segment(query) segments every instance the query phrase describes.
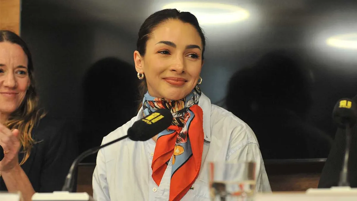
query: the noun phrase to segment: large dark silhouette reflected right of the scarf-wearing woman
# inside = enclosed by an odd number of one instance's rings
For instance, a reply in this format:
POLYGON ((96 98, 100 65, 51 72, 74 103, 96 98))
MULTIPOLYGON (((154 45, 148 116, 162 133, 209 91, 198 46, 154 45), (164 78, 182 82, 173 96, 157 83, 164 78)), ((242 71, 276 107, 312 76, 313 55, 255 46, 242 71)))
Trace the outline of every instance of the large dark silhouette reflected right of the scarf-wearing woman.
POLYGON ((306 122, 312 104, 311 73, 283 50, 236 72, 226 107, 255 132, 264 159, 321 158, 332 139, 306 122))

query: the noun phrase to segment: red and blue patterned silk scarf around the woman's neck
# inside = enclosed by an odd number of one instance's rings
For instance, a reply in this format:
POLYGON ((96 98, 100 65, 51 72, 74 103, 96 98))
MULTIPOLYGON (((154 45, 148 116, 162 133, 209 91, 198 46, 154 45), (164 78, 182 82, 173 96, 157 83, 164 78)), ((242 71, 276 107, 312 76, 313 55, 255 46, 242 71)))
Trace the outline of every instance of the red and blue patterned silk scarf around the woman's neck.
POLYGON ((197 105, 200 96, 198 85, 181 100, 154 98, 149 93, 144 96, 144 116, 165 108, 174 117, 171 126, 159 133, 151 165, 152 178, 159 186, 173 156, 169 201, 180 200, 187 193, 201 168, 204 134, 203 112, 197 105))

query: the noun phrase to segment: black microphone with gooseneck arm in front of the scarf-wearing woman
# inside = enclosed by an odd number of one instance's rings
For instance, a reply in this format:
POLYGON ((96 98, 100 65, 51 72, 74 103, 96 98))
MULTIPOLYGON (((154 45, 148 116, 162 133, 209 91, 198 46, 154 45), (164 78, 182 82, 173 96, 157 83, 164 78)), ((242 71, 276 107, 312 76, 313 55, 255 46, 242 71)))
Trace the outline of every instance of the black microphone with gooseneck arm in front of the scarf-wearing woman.
POLYGON ((167 129, 172 123, 172 114, 168 109, 158 109, 154 113, 136 121, 132 127, 128 129, 127 135, 114 141, 103 144, 99 147, 91 148, 79 155, 72 163, 72 166, 68 172, 65 183, 62 187, 62 191, 72 192, 74 186, 74 180, 72 175, 77 169, 78 164, 87 156, 94 154, 99 149, 109 146, 115 142, 121 141, 129 137, 132 141, 147 141, 154 137, 156 134, 167 129))

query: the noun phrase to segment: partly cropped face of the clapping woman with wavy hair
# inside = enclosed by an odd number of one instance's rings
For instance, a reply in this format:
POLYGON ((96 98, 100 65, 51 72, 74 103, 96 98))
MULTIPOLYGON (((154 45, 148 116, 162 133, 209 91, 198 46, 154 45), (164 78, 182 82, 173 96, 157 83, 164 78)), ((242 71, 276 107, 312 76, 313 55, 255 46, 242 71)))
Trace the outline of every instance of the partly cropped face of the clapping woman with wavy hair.
POLYGON ((20 45, 0 42, 0 114, 8 116, 25 98, 30 85, 27 56, 20 45))

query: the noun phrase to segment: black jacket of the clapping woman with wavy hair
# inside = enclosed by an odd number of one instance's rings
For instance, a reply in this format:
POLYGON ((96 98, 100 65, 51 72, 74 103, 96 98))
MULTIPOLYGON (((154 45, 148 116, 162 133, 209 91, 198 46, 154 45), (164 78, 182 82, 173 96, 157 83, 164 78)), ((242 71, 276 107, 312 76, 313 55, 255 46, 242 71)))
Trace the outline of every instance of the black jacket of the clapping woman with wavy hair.
MULTIPOLYGON (((65 121, 44 117, 32 131, 37 142, 21 166, 36 192, 60 191, 71 163, 78 155, 75 129, 65 121)), ((19 153, 19 162, 23 153, 19 153)), ((0 191, 7 191, 0 177, 0 191)))

